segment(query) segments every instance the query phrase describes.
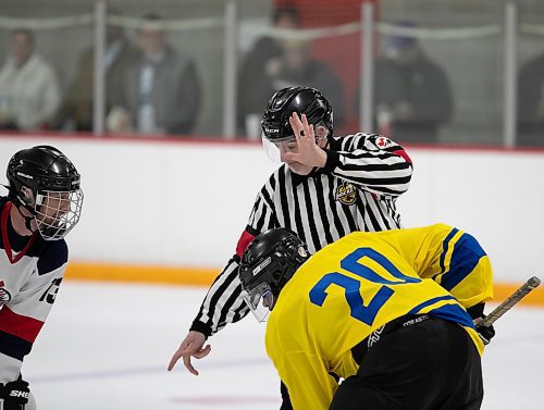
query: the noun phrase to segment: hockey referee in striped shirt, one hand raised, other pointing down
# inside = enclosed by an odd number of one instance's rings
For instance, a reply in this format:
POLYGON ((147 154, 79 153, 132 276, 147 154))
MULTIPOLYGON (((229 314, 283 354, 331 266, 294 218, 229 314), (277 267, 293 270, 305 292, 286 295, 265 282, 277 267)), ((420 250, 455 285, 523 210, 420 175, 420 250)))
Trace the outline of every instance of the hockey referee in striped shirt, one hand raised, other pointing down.
POLYGON ((406 192, 412 175, 403 147, 372 134, 334 137, 331 104, 308 87, 284 88, 270 99, 262 134, 269 151, 275 150, 283 164, 257 195, 236 254, 211 285, 169 370, 183 358, 187 370, 197 375, 190 358, 209 353, 206 339, 248 313, 240 297, 238 264, 246 246, 260 233, 289 228, 314 253, 355 231, 400 228, 395 201, 406 192))

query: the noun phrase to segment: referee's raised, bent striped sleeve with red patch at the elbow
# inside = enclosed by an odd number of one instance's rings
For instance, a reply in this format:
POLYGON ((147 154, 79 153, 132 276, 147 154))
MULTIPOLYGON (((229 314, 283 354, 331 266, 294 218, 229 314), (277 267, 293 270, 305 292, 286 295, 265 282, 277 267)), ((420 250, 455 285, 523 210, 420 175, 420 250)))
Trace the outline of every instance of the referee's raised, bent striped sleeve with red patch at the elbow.
POLYGON ((403 147, 386 137, 362 133, 335 137, 326 154, 325 172, 367 191, 397 197, 408 190, 411 160, 403 147))

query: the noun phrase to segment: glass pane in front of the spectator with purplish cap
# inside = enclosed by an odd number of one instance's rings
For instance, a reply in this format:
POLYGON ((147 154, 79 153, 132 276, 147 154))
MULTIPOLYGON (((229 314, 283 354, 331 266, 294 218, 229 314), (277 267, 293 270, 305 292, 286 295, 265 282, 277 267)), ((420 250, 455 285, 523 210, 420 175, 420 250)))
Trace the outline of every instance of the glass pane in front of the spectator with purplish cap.
POLYGON ((398 142, 503 144, 504 4, 381 2, 369 128, 398 142))

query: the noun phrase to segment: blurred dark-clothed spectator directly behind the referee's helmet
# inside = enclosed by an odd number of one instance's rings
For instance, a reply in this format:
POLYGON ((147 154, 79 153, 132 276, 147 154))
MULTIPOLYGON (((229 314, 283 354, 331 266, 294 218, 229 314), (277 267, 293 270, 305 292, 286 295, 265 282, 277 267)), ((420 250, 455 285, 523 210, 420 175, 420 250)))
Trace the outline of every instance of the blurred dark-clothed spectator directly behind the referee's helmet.
MULTIPOLYGON (((279 28, 296 28, 299 24, 298 12, 290 7, 279 9, 275 22, 279 28), (288 27, 289 24, 290 27, 288 27)), ((249 63, 246 62, 242 71, 238 114, 248 125, 246 127, 248 136, 260 137, 259 122, 251 122, 251 119, 261 119, 262 101, 267 101, 271 95, 285 87, 308 86, 319 89, 327 96, 329 101, 334 107, 335 124, 342 126, 344 119, 342 83, 326 64, 311 57, 310 44, 298 39, 282 39, 271 44, 275 45, 276 53, 274 55, 262 61, 260 67, 254 62, 254 67, 250 69, 248 67, 249 63), (245 73, 244 70, 247 70, 248 73, 245 73), (251 70, 251 74, 249 70, 251 70), (250 129, 251 123, 256 123, 255 129, 250 129)), ((272 48, 270 49, 272 50, 272 48)), ((269 53, 271 54, 271 52, 269 53)))

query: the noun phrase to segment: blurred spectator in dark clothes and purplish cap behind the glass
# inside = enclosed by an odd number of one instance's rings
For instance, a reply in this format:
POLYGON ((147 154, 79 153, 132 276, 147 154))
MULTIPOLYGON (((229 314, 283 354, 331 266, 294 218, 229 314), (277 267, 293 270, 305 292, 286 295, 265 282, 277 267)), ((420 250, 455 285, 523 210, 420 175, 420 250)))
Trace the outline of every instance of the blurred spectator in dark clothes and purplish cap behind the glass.
POLYGON ((452 116, 452 89, 445 72, 424 54, 418 40, 391 36, 375 61, 374 78, 379 132, 398 141, 436 142, 438 127, 452 116))

